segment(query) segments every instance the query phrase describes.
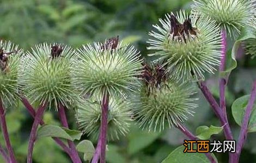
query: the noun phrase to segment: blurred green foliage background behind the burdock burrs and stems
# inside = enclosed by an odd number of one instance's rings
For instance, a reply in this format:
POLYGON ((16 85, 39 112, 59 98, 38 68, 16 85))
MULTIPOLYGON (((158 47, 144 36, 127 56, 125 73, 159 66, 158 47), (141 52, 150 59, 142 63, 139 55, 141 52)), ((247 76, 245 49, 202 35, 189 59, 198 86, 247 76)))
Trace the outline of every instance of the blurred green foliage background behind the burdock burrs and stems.
MULTIPOLYGON (((11 40, 20 47, 29 49, 36 43, 61 42, 73 47, 83 43, 103 41, 117 36, 124 42, 133 43, 142 55, 146 50, 148 32, 159 17, 170 11, 189 10, 190 0, 1 0, 0 37, 11 40)), ((229 40, 229 45, 234 41, 229 40)), ((230 53, 230 52, 229 52, 230 53)), ((248 55, 237 56, 239 66, 231 73, 227 89, 227 111, 235 138, 239 127, 231 117, 230 105, 234 99, 249 94, 253 79, 256 78, 256 58, 248 55)), ((208 77, 211 91, 218 96, 217 75, 208 77)), ((220 126, 204 97, 198 93, 198 108, 186 125, 193 133, 198 126, 220 126)), ((69 112, 71 128, 77 129, 74 111, 69 112)), ((56 112, 52 109, 44 116, 47 123, 58 124, 56 112)), ((21 102, 16 108, 8 108, 7 123, 17 160, 26 161, 29 131, 32 118, 21 102)), ((162 133, 149 133, 132 125, 130 133, 119 141, 108 143, 107 162, 161 162, 185 139, 180 131, 166 129, 162 133)), ((2 134, 1 134, 2 136, 2 134)), ((86 135, 83 139, 87 139, 86 135)), ((223 140, 222 135, 212 139, 223 140)), ((3 138, 0 138, 3 145, 3 138)), ((256 160, 256 134, 250 133, 241 155, 241 162, 256 160)), ((82 155, 81 155, 82 156, 82 155)), ((227 154, 216 154, 219 162, 227 162, 227 154)), ((36 142, 34 162, 70 162, 66 154, 50 138, 36 142)), ((0 160, 3 162, 3 160, 0 160)))

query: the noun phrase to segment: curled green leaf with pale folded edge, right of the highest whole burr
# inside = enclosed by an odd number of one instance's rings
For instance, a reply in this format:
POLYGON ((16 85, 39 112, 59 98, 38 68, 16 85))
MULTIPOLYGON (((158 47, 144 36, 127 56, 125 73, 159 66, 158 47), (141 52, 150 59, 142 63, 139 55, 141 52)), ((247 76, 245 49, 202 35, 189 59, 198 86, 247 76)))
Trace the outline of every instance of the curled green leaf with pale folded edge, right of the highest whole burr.
POLYGON ((236 62, 236 54, 237 50, 239 49, 242 41, 245 41, 250 38, 254 38, 255 36, 253 35, 252 29, 249 27, 245 27, 242 30, 241 35, 239 38, 235 41, 234 46, 232 48, 231 53, 227 53, 226 57, 226 69, 224 71, 220 72, 220 77, 228 79, 229 74, 231 73, 232 70, 234 70, 237 66, 236 62))

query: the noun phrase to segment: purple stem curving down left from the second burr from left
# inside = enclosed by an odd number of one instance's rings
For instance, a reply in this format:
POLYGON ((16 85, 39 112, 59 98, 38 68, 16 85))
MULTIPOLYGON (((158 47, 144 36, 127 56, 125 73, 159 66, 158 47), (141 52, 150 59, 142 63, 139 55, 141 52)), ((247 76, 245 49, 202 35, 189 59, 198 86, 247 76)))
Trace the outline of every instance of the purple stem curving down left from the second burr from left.
POLYGON ((42 120, 42 116, 44 115, 46 106, 47 106, 47 103, 42 102, 41 105, 39 106, 38 110, 36 111, 35 119, 34 119, 34 122, 32 125, 32 129, 31 129, 31 134, 29 136, 29 141, 28 141, 27 163, 32 163, 32 154, 33 154, 34 143, 36 140, 36 133, 37 133, 39 123, 42 120))

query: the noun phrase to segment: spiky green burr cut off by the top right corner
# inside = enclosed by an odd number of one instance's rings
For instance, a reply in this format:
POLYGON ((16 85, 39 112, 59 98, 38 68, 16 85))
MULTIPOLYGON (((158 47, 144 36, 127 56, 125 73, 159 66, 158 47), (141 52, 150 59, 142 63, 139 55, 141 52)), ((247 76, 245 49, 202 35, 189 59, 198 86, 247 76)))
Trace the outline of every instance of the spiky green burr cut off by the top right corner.
POLYGON ((200 12, 202 17, 210 18, 225 29, 230 36, 236 37, 248 25, 255 13, 255 0, 194 0, 192 12, 200 12))

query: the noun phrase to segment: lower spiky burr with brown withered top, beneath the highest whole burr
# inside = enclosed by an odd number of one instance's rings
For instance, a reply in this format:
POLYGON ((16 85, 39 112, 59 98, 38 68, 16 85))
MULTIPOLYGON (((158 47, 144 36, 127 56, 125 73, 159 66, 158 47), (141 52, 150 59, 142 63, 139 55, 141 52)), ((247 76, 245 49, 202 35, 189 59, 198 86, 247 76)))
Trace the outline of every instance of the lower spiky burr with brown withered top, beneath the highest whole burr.
POLYGON ((161 131, 178 126, 193 115, 197 105, 196 98, 191 97, 195 93, 191 85, 170 80, 159 65, 145 65, 142 79, 142 91, 131 98, 141 128, 161 131))

